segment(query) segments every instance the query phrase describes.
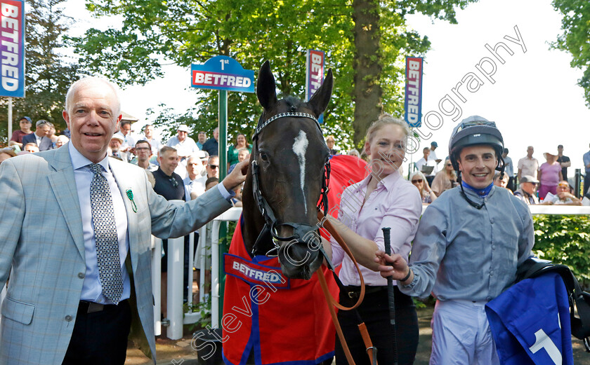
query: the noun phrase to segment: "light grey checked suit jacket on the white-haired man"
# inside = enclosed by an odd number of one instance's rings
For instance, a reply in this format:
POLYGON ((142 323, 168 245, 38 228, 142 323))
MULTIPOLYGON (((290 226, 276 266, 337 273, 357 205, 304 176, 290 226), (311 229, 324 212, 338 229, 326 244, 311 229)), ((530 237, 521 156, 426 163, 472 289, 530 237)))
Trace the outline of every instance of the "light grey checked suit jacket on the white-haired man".
MULTIPOLYGON (((125 202, 133 335, 155 354, 150 235, 180 237, 231 207, 217 189, 175 205, 154 193, 143 169, 110 158, 125 202), (125 191, 131 188, 137 212, 125 191), (142 341, 143 339, 143 341, 142 341)), ((90 193, 90 192, 89 192, 90 193)), ((61 364, 70 343, 86 264, 67 145, 0 166, 0 364, 61 364)), ((155 356, 154 361, 155 361, 155 356)))

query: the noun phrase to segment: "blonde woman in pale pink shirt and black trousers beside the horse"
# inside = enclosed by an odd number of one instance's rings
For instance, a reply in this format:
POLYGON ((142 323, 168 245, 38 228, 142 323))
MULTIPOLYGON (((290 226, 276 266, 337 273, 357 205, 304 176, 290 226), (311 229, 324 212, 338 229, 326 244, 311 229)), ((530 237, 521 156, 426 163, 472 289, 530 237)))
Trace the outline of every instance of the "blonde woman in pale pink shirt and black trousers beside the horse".
MULTIPOLYGON (((402 178, 398 169, 404 160, 409 128, 406 123, 389 114, 382 114, 367 131, 365 152, 370 156, 371 174, 357 184, 348 186, 342 194, 338 221, 331 219, 355 258, 371 261, 377 249, 384 249, 381 228, 391 227, 391 252, 409 254, 422 209, 417 188, 402 178), (369 257, 370 256, 370 257, 369 257)), ((335 265, 341 263, 340 279, 346 286, 340 292, 340 303, 353 305, 360 293, 360 279, 348 256, 332 238, 327 251, 332 252, 335 265)), ((358 308, 369 336, 377 348, 379 364, 393 364, 393 336, 389 324, 387 280, 375 272, 376 266, 361 266, 365 278, 365 300, 358 308)), ((395 281, 394 281, 395 283, 395 281)), ((343 333, 355 362, 367 362, 365 345, 358 329, 354 311, 338 312, 343 333)), ((412 364, 418 345, 418 319, 412 298, 395 287, 395 320, 398 364, 412 364)), ((336 364, 347 364, 339 339, 336 338, 336 364)))

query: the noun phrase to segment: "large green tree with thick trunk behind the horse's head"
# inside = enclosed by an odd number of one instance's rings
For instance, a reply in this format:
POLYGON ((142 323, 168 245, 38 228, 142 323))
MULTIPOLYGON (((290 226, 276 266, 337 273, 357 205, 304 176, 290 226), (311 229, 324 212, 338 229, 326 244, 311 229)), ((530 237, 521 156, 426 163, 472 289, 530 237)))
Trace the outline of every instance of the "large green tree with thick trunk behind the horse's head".
MULTIPOLYGON (((403 55, 422 55, 429 46, 426 37, 407 31, 403 15, 423 11, 454 20, 452 4, 467 2, 91 0, 88 8, 94 15, 122 15, 122 27, 90 29, 72 41, 89 71, 106 74, 119 85, 161 76, 164 60, 186 67, 228 55, 246 69, 271 60, 280 92, 295 96, 304 93, 306 50, 324 50, 335 74, 324 130, 349 148, 362 142, 381 110, 402 115, 403 55)), ((197 129, 206 126, 205 120, 216 120, 216 93, 202 95, 197 129)), ((228 113, 230 137, 251 135, 261 109, 254 95, 230 93, 228 113)))

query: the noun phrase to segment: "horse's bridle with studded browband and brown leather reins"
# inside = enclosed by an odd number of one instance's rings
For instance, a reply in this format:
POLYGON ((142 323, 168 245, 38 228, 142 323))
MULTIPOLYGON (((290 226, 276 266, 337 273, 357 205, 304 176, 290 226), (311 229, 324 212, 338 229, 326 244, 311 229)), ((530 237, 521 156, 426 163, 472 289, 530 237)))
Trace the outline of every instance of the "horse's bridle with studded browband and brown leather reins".
MULTIPOLYGON (((262 122, 262 117, 263 116, 260 117, 260 120, 258 121, 258 127, 256 128, 256 131, 254 132, 254 136, 252 137, 252 143, 253 143, 252 153, 254 155, 254 158, 252 158, 251 171, 252 171, 252 190, 254 193, 254 200, 256 201, 256 205, 258 206, 258 210, 261 212, 261 214, 264 218, 265 224, 264 224, 263 229, 261 230, 261 233, 258 235, 258 238, 256 238, 256 242, 254 243, 254 246, 252 247, 252 254, 254 254, 254 255, 263 254, 265 256, 277 256, 278 252, 279 252, 279 247, 280 247, 279 244, 277 243, 277 241, 289 242, 291 240, 298 239, 298 238, 303 239, 305 233, 308 233, 311 230, 314 230, 313 228, 317 229, 320 227, 324 227, 328 230, 328 232, 332 235, 332 237, 334 237, 336 242, 338 242, 339 245, 342 247, 344 252, 346 252, 348 257, 350 257, 350 259, 353 261, 353 263, 355 264, 355 268, 358 271, 358 275, 360 277, 360 295, 358 297, 358 300, 352 307, 345 307, 345 306, 341 305, 330 293, 330 291, 328 289, 327 282, 326 282, 326 278, 324 276, 324 272, 323 272, 321 266, 316 271, 317 278, 320 281, 320 286, 322 287, 322 291, 324 292, 324 296, 325 296, 326 302, 328 304, 330 315, 332 316, 332 322, 334 322, 334 327, 336 328, 336 333, 338 333, 338 337, 339 337, 340 343, 343 347, 343 351, 346 355, 346 359, 348 361, 348 364, 355 365, 355 361, 352 357, 352 354, 350 354, 350 350, 348 349, 348 345, 346 343, 346 338, 344 338, 344 334, 342 332, 340 323, 338 321, 338 317, 336 315, 336 310, 334 310, 334 307, 339 308, 339 310, 356 310, 356 308, 358 308, 360 303, 362 303, 363 299, 365 298, 365 280, 363 279, 362 273, 360 272, 360 267, 358 266, 358 263, 355 260, 352 252, 350 252, 350 249, 346 245, 346 242, 344 242, 341 235, 339 235, 339 233, 336 232, 336 229, 334 228, 332 223, 330 223, 327 220, 327 218, 325 217, 328 213, 328 195, 327 195, 327 193, 329 190, 328 186, 329 186, 329 178, 330 178, 330 163, 328 161, 324 165, 324 178, 322 179, 322 191, 321 191, 322 198, 320 200, 319 205, 317 206, 317 209, 318 209, 317 219, 319 220, 318 226, 314 227, 314 226, 308 226, 307 224, 290 223, 290 222, 281 223, 281 225, 291 226, 294 228, 293 235, 291 235, 290 237, 280 237, 277 234, 277 232, 278 232, 276 229, 277 224, 278 224, 277 219, 275 217, 275 213, 273 212, 273 209, 270 207, 270 205, 268 204, 268 202, 264 198, 262 191, 260 190, 259 167, 258 167, 258 163, 256 163, 256 160, 258 158, 258 134, 263 130, 263 128, 265 128, 265 126, 269 125, 273 121, 280 119, 280 118, 308 118, 308 119, 311 119, 315 122, 315 125, 317 125, 317 128, 320 130, 320 133, 323 135, 322 128, 320 127, 320 123, 317 121, 317 118, 315 118, 315 116, 313 116, 309 113, 297 112, 296 109, 294 109, 293 107, 291 107, 290 112, 278 113, 275 116, 271 116, 270 118, 268 118, 264 122, 262 122), (322 214, 322 210, 323 210, 323 214, 322 214), (263 249, 261 250, 260 246, 263 245, 263 242, 265 242, 265 240, 267 240, 269 234, 272 237, 272 242, 273 242, 274 247, 272 249, 270 249, 268 252, 264 252, 263 249), (276 251, 276 254, 270 254, 275 251, 276 251)), ((322 252, 323 256, 325 257, 325 260, 327 262, 327 266, 328 266, 329 270, 332 271, 332 275, 334 275, 334 279, 336 280, 336 283, 338 284, 340 290, 345 290, 338 275, 336 275, 336 272, 334 271, 334 266, 332 265, 332 261, 330 261, 329 257, 327 256, 326 252, 324 251, 324 249, 322 247, 321 241, 320 241, 319 246, 320 246, 320 252, 322 252)), ((357 315, 357 317, 360 318, 359 315, 357 315)), ((367 331, 367 327, 365 326, 365 323, 362 322, 362 320, 361 320, 360 324, 358 324, 358 327, 359 327, 359 331, 362 336, 362 340, 365 343, 365 347, 367 347, 367 354, 369 356, 369 361, 371 361, 371 363, 373 365, 377 365, 377 360, 376 360, 376 352, 377 351, 376 351, 376 348, 373 347, 373 345, 372 345, 371 338, 369 338, 369 333, 367 331)))

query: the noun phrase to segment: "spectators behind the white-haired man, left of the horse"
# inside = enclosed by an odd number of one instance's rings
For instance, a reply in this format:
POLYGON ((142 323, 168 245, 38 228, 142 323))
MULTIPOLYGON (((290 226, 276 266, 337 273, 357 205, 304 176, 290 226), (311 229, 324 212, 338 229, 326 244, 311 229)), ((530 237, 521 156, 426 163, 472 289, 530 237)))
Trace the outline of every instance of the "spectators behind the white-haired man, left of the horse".
MULTIPOLYGON (((54 125, 48 120, 37 120, 34 130, 28 116, 20 118, 19 124, 20 129, 13 132, 8 147, 0 149, 0 163, 24 153, 58 149, 70 141, 69 130, 56 135, 54 125)), ((209 139, 205 131, 199 131, 198 142, 188 136, 189 132, 188 125, 178 125, 176 135, 163 143, 155 137, 153 125, 144 125, 143 133, 136 134, 131 120, 121 120, 107 153, 113 158, 143 167, 152 188, 160 195, 169 199, 192 200, 202 195, 208 185, 214 186, 219 181, 219 130, 215 128, 213 137, 209 139), (169 167, 174 168, 169 171, 169 167), (177 184, 173 186, 178 191, 174 196, 166 194, 166 189, 160 189, 168 183, 177 184)), ((238 162, 249 159, 251 151, 246 135, 237 135, 235 144, 228 149, 228 173, 238 162)), ((241 188, 237 190, 241 193, 241 188)), ((241 194, 233 202, 240 206, 241 194)))

